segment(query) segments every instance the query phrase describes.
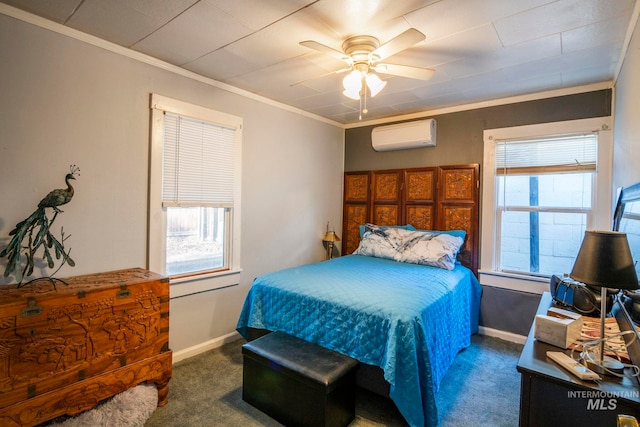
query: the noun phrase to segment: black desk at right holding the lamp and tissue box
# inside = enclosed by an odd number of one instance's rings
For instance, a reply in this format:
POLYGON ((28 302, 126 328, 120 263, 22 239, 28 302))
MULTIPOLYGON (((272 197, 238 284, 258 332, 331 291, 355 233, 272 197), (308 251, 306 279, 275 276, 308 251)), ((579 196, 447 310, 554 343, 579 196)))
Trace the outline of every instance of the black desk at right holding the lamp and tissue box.
MULTIPOLYGON (((537 314, 545 314, 551 303, 551 294, 545 292, 537 314)), ((533 333, 532 325, 517 366, 522 375, 520 427, 615 427, 618 414, 640 419, 636 379, 607 376, 599 383, 581 381, 547 358, 547 351, 561 349, 537 341, 533 333)))

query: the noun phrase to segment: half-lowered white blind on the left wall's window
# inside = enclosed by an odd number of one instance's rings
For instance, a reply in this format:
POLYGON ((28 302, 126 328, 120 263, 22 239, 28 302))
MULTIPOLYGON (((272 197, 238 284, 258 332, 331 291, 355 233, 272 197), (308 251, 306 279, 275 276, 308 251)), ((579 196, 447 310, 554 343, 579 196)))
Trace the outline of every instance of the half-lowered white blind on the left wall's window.
POLYGON ((231 207, 235 130, 165 112, 162 206, 231 207))

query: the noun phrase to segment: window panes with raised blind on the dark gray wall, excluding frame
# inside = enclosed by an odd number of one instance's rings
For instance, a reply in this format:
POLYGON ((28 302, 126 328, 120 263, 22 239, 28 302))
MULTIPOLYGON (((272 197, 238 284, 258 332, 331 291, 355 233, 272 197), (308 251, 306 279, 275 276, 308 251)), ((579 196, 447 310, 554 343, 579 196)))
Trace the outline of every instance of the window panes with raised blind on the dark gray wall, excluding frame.
POLYGON ((496 141, 497 270, 571 271, 592 223, 598 136, 496 141))

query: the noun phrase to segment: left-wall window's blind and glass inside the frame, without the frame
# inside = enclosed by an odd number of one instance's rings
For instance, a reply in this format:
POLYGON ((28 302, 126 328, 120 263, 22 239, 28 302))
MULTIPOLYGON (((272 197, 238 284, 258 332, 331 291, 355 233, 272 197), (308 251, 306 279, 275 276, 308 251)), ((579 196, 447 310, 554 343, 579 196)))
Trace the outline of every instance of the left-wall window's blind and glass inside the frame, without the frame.
POLYGON ((166 274, 228 269, 235 129, 164 113, 166 274))

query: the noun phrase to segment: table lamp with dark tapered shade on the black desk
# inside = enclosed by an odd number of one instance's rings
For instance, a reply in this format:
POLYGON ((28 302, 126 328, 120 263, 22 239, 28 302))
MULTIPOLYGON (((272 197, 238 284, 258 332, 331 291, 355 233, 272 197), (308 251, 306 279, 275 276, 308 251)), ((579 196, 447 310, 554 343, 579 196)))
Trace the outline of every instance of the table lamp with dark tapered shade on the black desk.
POLYGON ((587 230, 578 251, 573 270, 573 280, 600 288, 600 351, 594 357, 585 357, 589 369, 600 374, 622 372, 624 366, 618 360, 605 357, 605 317, 607 312, 607 288, 638 289, 633 257, 626 233, 617 231, 587 230))

